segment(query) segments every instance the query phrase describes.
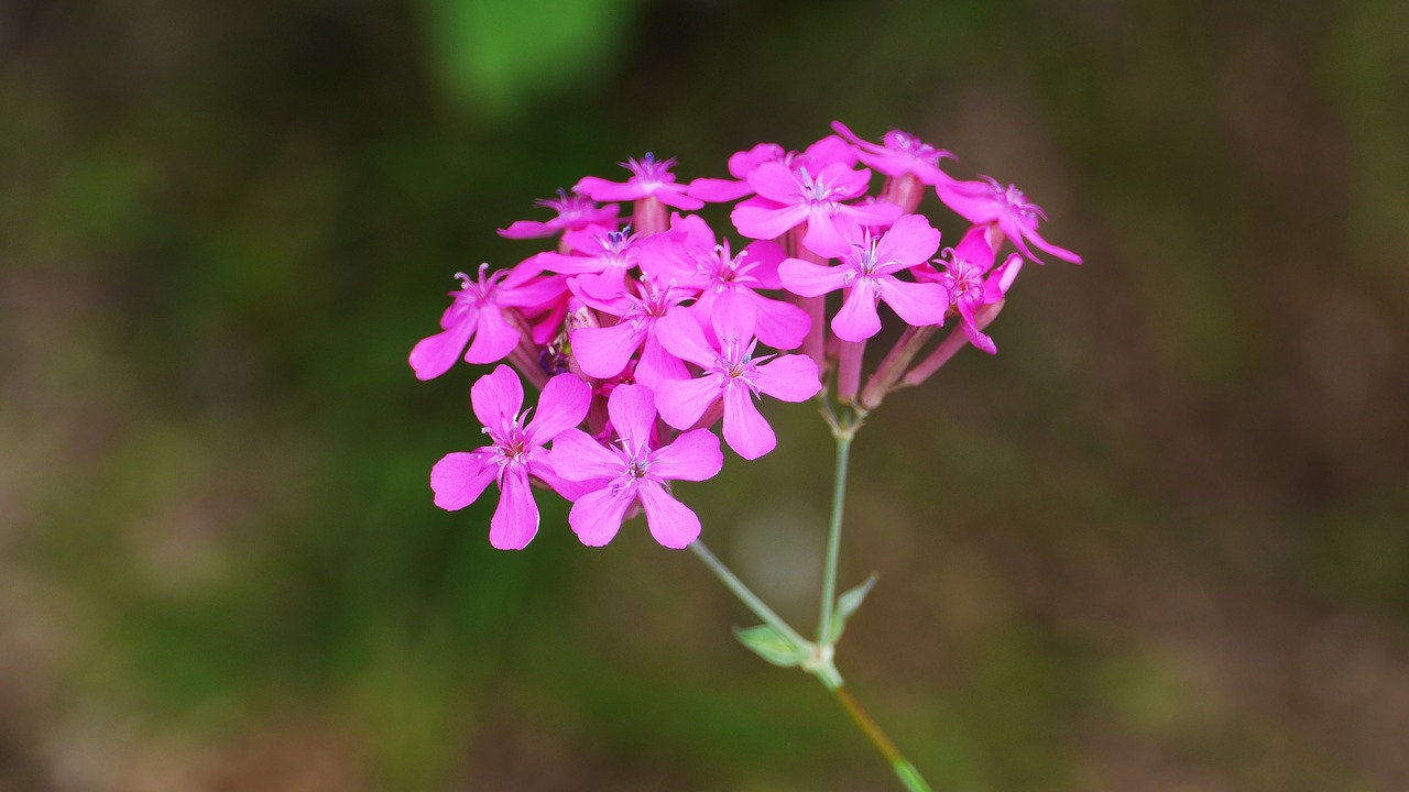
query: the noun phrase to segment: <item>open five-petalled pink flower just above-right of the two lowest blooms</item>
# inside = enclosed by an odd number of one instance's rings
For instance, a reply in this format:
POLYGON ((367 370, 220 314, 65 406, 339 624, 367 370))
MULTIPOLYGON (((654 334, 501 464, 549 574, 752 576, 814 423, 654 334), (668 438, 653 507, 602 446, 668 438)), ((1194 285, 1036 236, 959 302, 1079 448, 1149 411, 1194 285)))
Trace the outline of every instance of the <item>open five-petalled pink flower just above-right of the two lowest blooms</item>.
POLYGON ((745 302, 720 303, 714 310, 719 348, 689 316, 675 313, 661 320, 661 344, 681 359, 703 369, 695 379, 662 382, 655 400, 661 419, 675 428, 689 428, 714 402, 724 400, 724 441, 740 457, 757 459, 778 445, 774 428, 754 404, 759 393, 783 402, 806 402, 821 390, 817 364, 806 355, 755 358, 754 309, 745 302))

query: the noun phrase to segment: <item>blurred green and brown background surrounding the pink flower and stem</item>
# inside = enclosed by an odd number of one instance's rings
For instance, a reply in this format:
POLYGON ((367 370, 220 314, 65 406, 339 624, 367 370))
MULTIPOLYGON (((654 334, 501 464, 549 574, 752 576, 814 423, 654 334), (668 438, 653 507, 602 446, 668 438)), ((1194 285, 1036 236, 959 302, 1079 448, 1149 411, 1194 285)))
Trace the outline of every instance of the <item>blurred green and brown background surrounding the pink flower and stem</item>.
MULTIPOLYGON (((855 448, 840 667, 934 788, 1409 789, 1398 0, 0 4, 0 789, 898 788, 640 523, 434 509, 475 372, 406 365, 534 199, 833 118, 1086 258, 855 448)), ((769 414, 685 492, 810 624, 769 414)))

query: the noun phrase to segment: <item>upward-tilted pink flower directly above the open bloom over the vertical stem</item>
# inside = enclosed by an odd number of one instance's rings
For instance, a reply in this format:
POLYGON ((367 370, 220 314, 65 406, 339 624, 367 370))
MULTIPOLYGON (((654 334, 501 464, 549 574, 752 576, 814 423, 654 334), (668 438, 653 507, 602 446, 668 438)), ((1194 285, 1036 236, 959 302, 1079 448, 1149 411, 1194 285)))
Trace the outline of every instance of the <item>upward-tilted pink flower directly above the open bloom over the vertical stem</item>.
POLYGON ((861 197, 871 186, 871 171, 852 171, 843 162, 814 173, 765 162, 748 173, 748 183, 758 194, 734 207, 730 217, 738 233, 754 240, 775 240, 806 223, 803 245, 820 255, 843 244, 838 217, 859 225, 889 225, 900 217, 900 207, 890 203, 841 203, 861 197))

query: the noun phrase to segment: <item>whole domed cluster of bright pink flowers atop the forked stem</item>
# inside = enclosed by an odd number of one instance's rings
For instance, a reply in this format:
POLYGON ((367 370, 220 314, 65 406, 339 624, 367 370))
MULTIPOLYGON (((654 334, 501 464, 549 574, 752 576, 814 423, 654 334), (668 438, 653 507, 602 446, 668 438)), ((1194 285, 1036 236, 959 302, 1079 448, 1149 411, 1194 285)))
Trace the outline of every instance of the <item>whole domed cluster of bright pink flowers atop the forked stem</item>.
POLYGON ((957 344, 995 352, 983 328, 1023 261, 1041 264, 1034 248, 1081 262, 1038 235, 1045 216, 1017 187, 955 180, 940 169, 950 152, 906 132, 875 144, 833 128, 805 151, 759 144, 735 154, 733 179, 682 183, 674 159, 647 154, 623 163, 624 182, 588 176, 540 202, 552 220, 500 230, 557 245, 511 268, 457 275, 441 331, 410 355, 420 379, 461 357, 513 366, 471 389, 490 443, 435 464, 435 505, 462 509, 495 482, 489 538, 517 550, 538 530, 538 483, 572 502, 568 521, 583 544, 612 541, 640 510, 658 543, 686 547, 700 523, 671 482, 714 476, 720 437, 745 459, 772 451, 762 397, 806 402, 826 380, 864 414, 933 373, 957 344), (943 252, 940 231, 916 213, 930 190, 971 224, 943 252), (628 221, 620 203, 630 203, 628 221), (737 254, 693 214, 712 203, 734 203, 734 231, 750 240, 737 254), (1006 242, 1016 251, 998 264, 1006 242), (905 330, 862 388, 882 303, 905 330), (957 330, 914 364, 951 317, 957 330), (524 409, 520 376, 541 390, 537 412, 524 409))

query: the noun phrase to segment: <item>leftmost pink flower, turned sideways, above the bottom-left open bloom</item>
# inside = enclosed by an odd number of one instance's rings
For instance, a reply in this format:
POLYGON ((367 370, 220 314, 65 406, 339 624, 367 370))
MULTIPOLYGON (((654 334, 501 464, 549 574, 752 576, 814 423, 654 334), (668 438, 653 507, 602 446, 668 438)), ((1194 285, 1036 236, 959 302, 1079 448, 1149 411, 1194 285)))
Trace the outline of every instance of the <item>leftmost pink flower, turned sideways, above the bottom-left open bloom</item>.
POLYGON ((469 364, 492 364, 511 352, 519 345, 520 331, 504 318, 504 310, 541 309, 562 293, 562 279, 535 280, 538 272, 534 266, 516 266, 490 273, 488 264, 479 265, 478 280, 457 272, 461 287, 449 293, 455 302, 441 316, 441 333, 421 338, 411 349, 416 378, 434 379, 445 373, 461 352, 469 364))

